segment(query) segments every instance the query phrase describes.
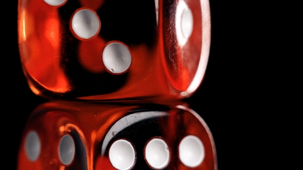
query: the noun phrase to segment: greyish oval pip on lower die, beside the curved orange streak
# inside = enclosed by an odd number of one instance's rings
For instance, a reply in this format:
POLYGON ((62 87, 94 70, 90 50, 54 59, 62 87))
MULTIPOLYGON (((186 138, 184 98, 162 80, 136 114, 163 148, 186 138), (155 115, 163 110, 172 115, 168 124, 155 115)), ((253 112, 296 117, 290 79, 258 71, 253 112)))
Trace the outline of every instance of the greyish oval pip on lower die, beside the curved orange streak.
POLYGON ((64 165, 72 162, 75 154, 74 141, 69 135, 64 135, 59 144, 59 156, 64 165))

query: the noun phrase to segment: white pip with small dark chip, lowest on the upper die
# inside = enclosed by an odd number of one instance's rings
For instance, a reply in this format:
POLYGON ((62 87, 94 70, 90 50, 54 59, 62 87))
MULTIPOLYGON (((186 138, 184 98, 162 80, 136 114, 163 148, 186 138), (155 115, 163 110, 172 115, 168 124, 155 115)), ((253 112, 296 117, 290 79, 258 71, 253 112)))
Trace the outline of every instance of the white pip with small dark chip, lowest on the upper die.
POLYGON ((125 72, 131 63, 131 55, 126 46, 119 42, 108 44, 103 51, 104 66, 112 73, 125 72))

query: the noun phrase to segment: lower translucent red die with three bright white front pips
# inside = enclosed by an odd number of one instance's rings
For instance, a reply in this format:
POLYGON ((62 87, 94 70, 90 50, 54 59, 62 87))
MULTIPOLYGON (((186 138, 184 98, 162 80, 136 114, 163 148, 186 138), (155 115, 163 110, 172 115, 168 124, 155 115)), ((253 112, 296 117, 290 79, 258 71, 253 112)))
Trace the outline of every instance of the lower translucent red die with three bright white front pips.
POLYGON ((183 105, 49 102, 26 125, 18 169, 216 169, 207 125, 183 105))

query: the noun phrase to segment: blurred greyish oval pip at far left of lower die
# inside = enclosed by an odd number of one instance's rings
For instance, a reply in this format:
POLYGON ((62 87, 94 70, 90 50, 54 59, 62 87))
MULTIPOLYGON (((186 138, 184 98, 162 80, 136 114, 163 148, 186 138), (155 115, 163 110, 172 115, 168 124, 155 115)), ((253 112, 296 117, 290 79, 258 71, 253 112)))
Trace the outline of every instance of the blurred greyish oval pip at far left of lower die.
POLYGON ((38 159, 41 152, 39 135, 35 131, 30 131, 25 139, 25 153, 30 161, 38 159))

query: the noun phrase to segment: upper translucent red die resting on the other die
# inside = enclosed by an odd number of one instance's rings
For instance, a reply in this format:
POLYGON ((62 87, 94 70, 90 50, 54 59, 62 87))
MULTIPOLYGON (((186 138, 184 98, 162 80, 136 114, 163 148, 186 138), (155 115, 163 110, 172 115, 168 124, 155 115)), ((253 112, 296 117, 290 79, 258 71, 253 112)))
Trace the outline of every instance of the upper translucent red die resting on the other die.
POLYGON ((20 0, 32 91, 89 100, 190 96, 210 46, 206 0, 20 0))

